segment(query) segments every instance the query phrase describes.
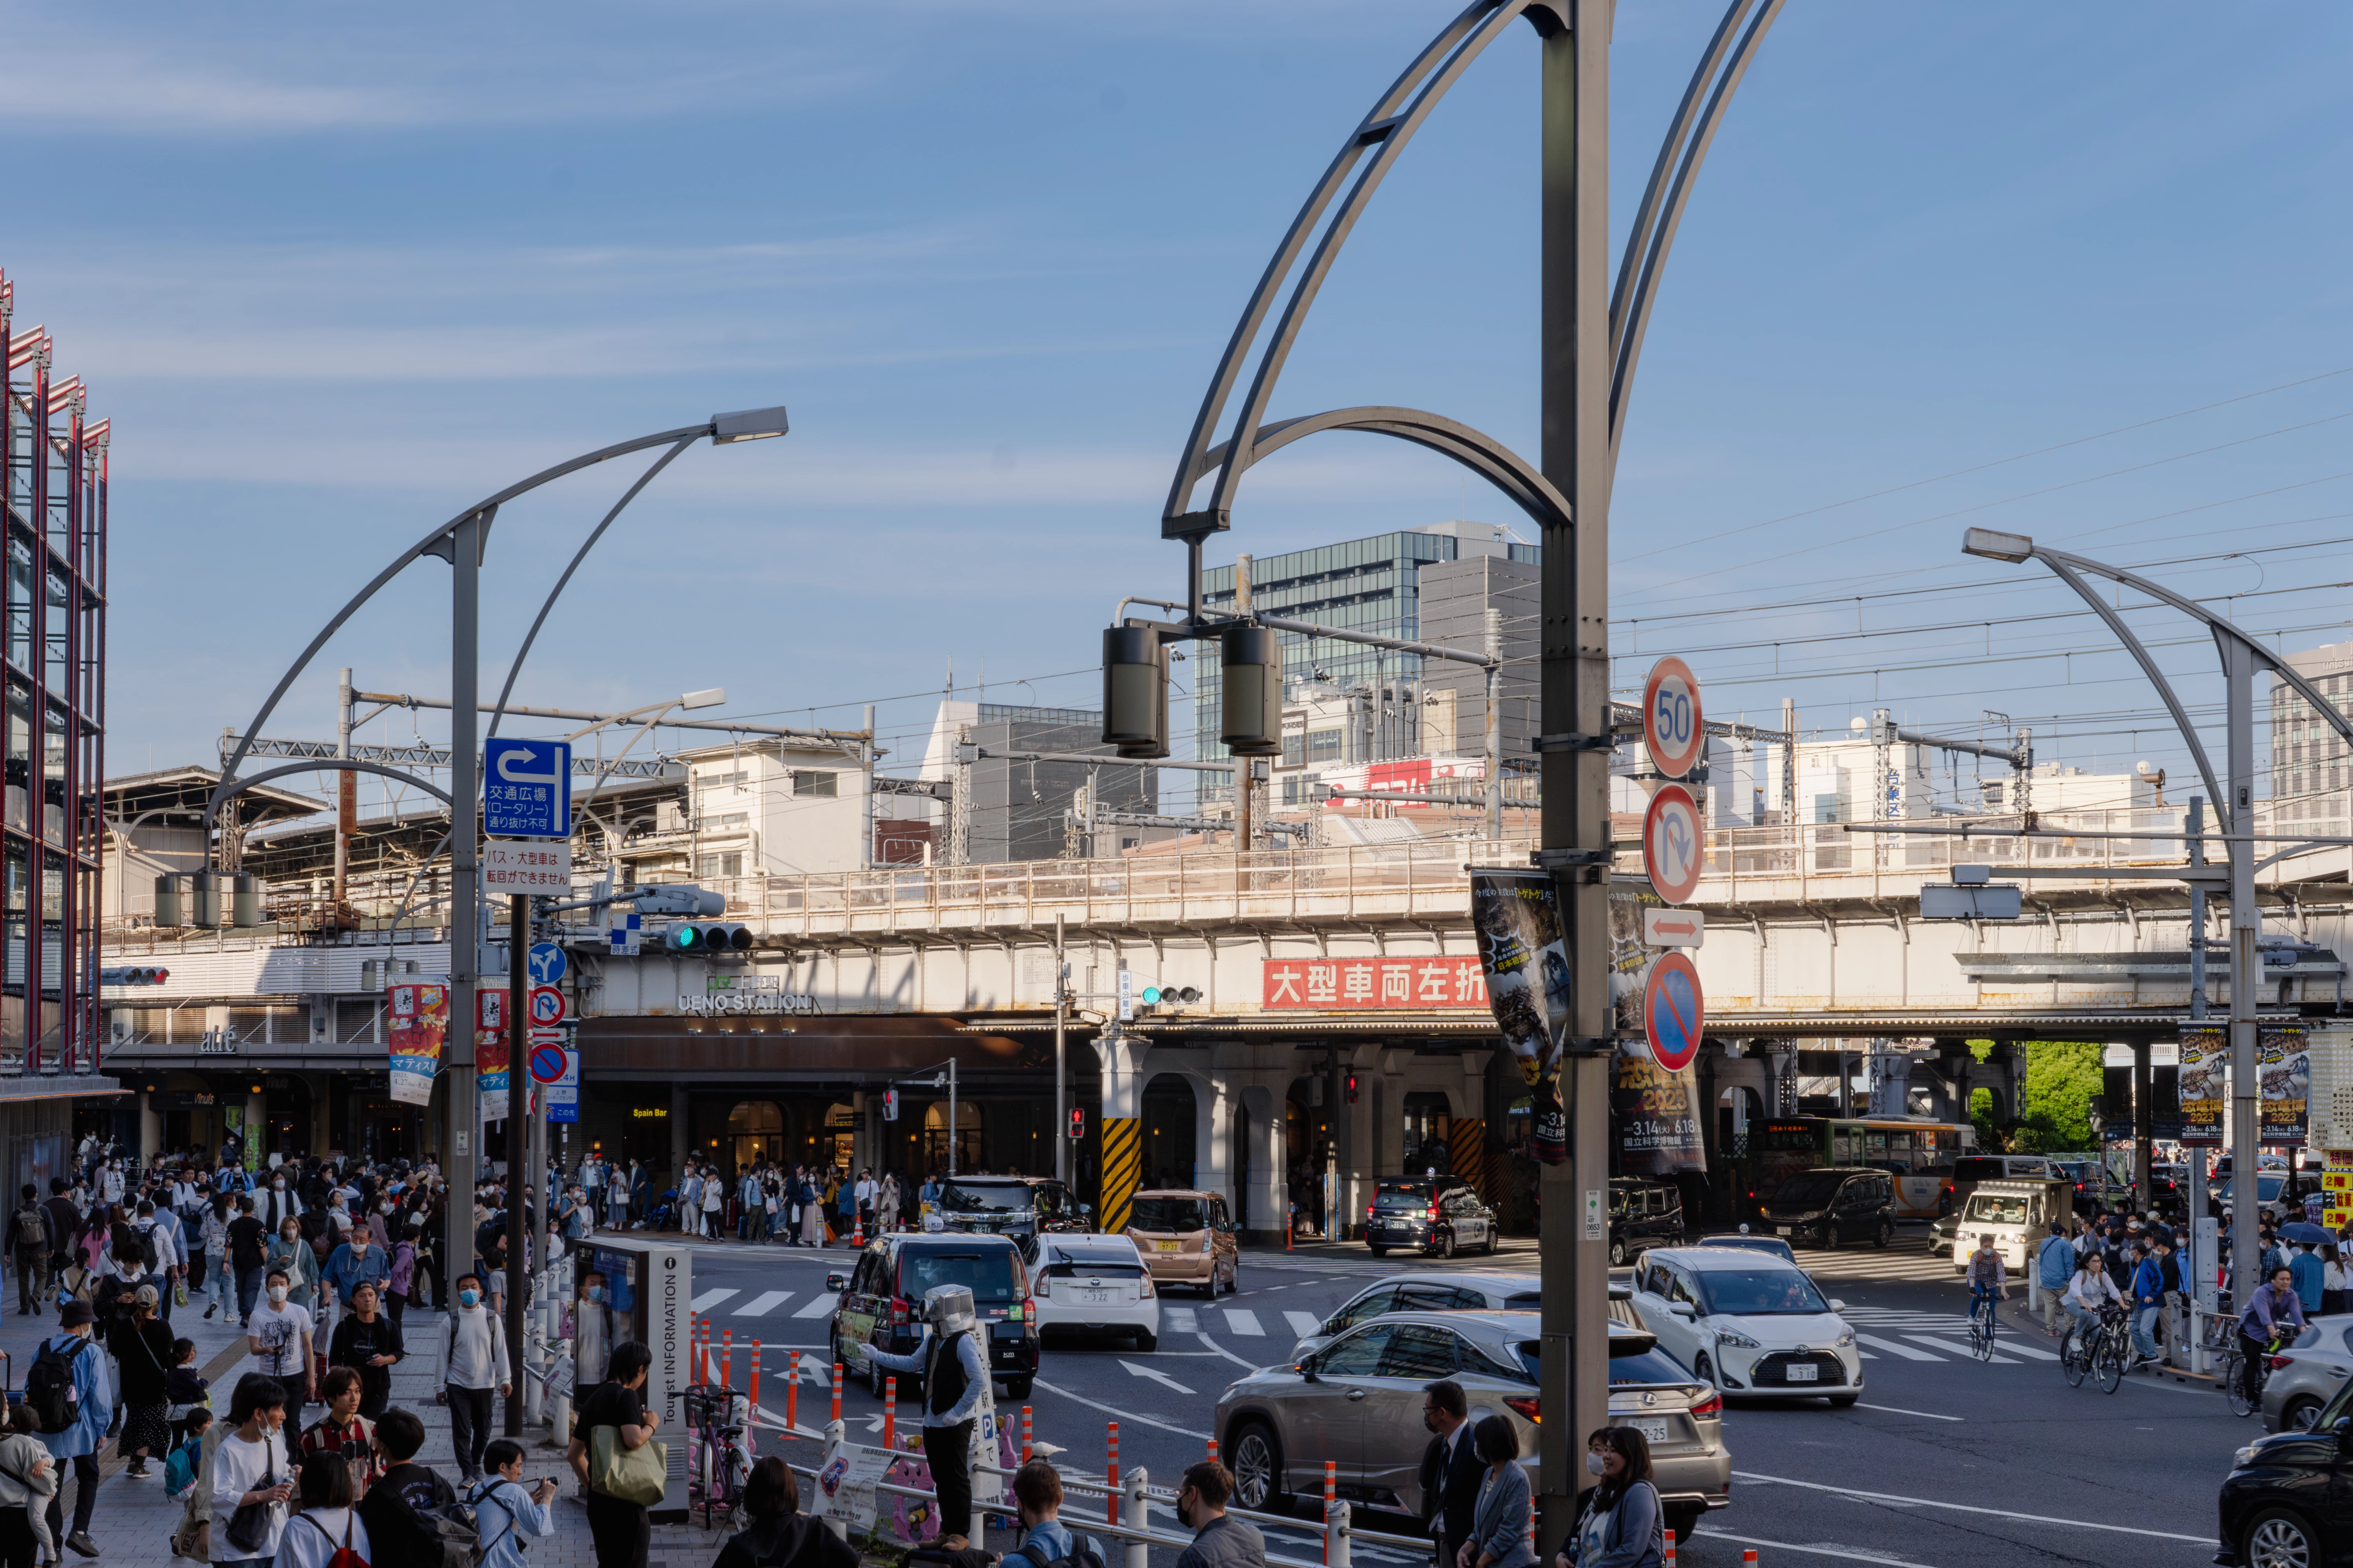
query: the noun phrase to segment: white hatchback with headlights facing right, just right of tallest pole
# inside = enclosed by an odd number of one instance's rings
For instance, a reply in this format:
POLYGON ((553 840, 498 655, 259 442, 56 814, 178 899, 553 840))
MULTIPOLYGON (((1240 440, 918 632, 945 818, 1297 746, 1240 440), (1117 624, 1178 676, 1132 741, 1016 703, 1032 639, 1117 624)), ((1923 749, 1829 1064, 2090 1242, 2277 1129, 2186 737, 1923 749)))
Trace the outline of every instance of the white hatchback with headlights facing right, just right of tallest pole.
POLYGON ((1725 1394, 1821 1394, 1852 1406, 1864 1392, 1854 1331, 1814 1279, 1779 1258, 1734 1248, 1642 1253, 1633 1305, 1659 1349, 1725 1394))

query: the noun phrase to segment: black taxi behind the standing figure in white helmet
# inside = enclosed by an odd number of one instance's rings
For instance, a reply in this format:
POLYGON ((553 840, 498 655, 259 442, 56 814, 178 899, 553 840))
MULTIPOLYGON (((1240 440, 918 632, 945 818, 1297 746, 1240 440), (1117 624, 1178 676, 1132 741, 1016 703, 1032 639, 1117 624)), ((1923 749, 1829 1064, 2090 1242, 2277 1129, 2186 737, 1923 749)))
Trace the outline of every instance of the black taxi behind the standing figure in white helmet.
MULTIPOLYGON (((965 1286, 988 1342, 988 1371, 1007 1399, 1028 1399, 1038 1375, 1038 1309, 1031 1305, 1028 1267, 1009 1237, 899 1234, 878 1237, 847 1274, 828 1274, 833 1307, 833 1359, 845 1378, 864 1373, 880 1394, 885 1373, 866 1359, 866 1347, 908 1354, 922 1345, 922 1298, 934 1286, 965 1286)), ((899 1378, 899 1394, 913 1399, 918 1378, 899 1378)))

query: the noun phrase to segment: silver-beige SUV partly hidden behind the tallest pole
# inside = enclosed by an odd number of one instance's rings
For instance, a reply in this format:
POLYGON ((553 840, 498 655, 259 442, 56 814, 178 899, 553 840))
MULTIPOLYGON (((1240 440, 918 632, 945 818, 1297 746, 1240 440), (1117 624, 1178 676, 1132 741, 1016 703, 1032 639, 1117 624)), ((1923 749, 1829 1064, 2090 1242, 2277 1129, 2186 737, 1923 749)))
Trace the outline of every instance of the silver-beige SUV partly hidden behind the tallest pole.
MULTIPOLYGON (((1217 1399, 1217 1434, 1235 1495, 1264 1509, 1289 1493, 1318 1495, 1325 1462, 1339 1495, 1374 1509, 1421 1514, 1421 1389, 1452 1378, 1471 1418, 1504 1415, 1534 1472, 1539 1328, 1534 1312, 1393 1312, 1355 1324, 1297 1366, 1273 1366, 1217 1399)), ((1609 1324, 1609 1425, 1649 1441, 1666 1523, 1678 1540, 1729 1502, 1722 1396, 1628 1324, 1609 1324)), ((1529 1474, 1534 1481, 1534 1474, 1529 1474)), ((1419 1530, 1409 1530, 1419 1533, 1419 1530)))

